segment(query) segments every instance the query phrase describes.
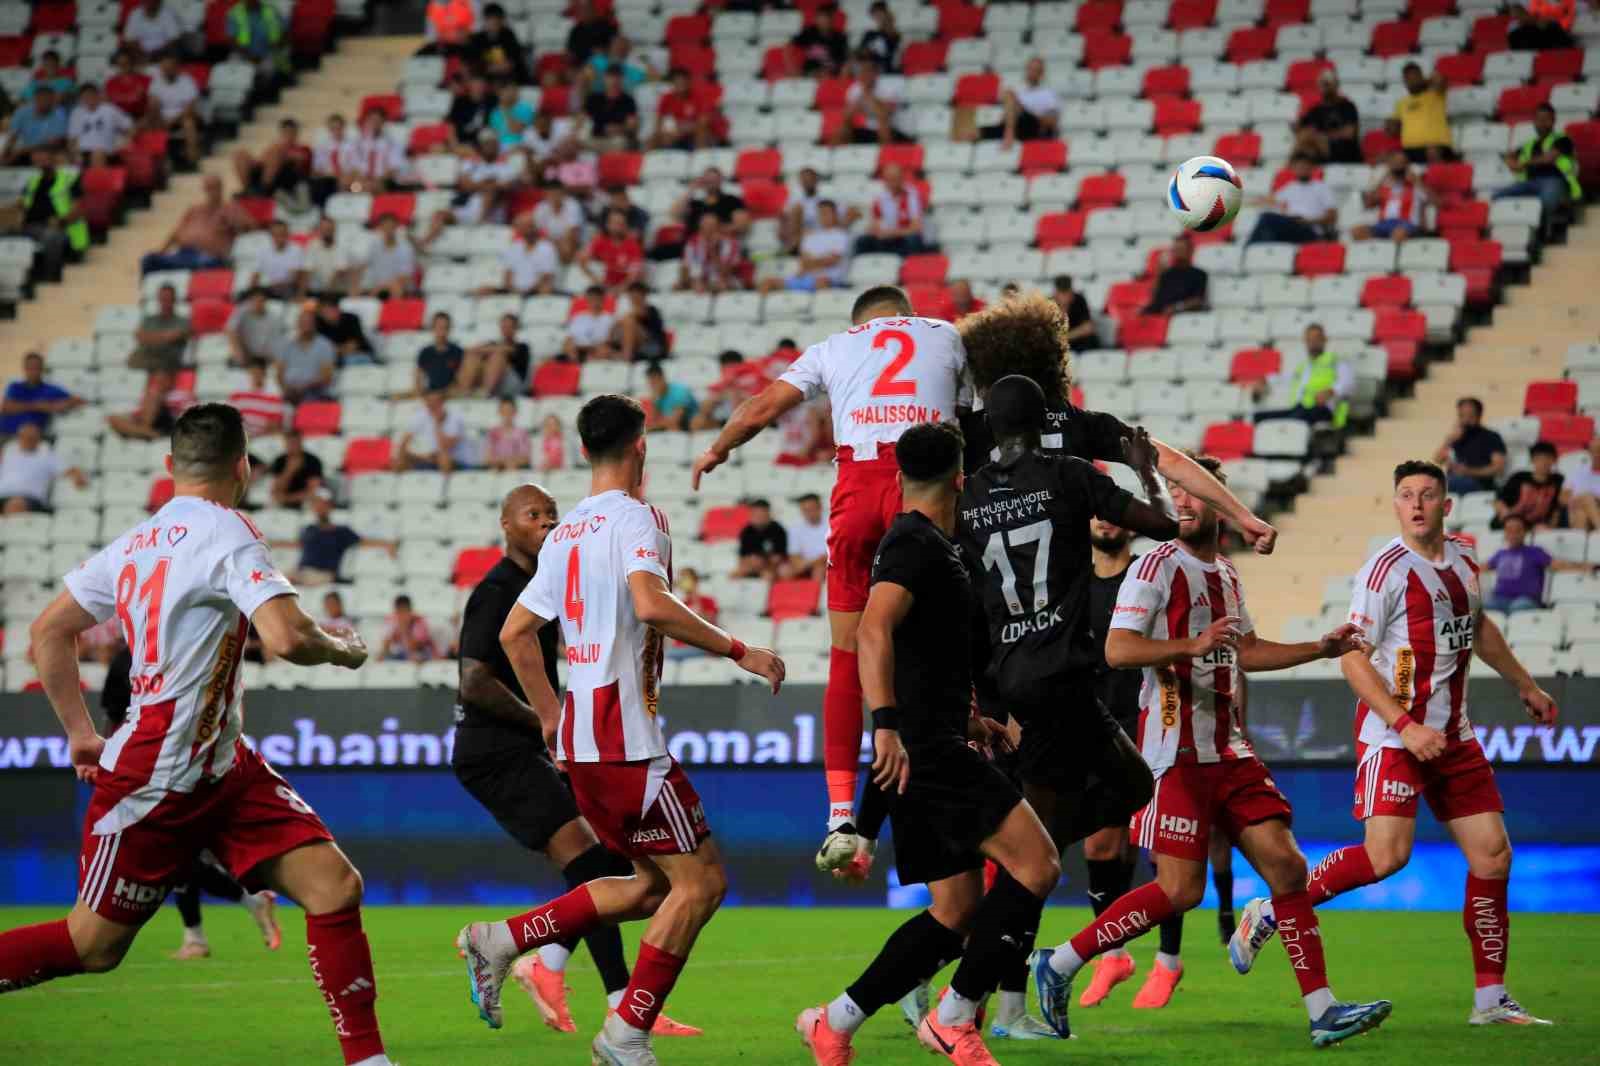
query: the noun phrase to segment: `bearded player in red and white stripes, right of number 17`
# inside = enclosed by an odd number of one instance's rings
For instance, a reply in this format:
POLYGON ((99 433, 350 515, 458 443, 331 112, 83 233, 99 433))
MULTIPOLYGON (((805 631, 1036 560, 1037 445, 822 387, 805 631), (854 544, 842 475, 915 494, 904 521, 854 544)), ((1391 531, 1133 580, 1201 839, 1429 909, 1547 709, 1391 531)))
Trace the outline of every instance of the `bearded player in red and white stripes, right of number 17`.
MULTIPOLYGON (((1218 459, 1195 461, 1224 477, 1218 459)), ((1390 1004, 1339 1002, 1328 988, 1322 933, 1306 893, 1306 856, 1290 832, 1290 804, 1245 739, 1234 701, 1243 672, 1338 658, 1363 647, 1360 632, 1344 624, 1306 643, 1259 639, 1238 573, 1218 554, 1216 511, 1178 483, 1168 487, 1178 539, 1123 578, 1106 635, 1109 666, 1144 667, 1139 749, 1155 775, 1155 795, 1133 816, 1131 836, 1155 856, 1155 880, 1123 895, 1054 952, 1035 952, 1040 1008, 1066 1036, 1072 975, 1090 957, 1197 906, 1210 837, 1221 831, 1272 888, 1312 1044, 1336 1044, 1381 1024, 1390 1004)))

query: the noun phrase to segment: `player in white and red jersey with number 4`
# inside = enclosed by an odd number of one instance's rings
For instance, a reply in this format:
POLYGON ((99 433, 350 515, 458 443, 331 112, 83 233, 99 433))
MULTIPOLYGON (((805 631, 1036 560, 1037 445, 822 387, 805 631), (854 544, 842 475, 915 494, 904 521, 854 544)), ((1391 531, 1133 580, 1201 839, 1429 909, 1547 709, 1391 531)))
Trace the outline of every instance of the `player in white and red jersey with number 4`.
POLYGON ((656 720, 664 642, 726 656, 765 677, 774 693, 784 663, 674 595, 667 519, 638 498, 645 408, 598 395, 578 413, 578 435, 594 471, 590 495, 544 538, 501 645, 566 767, 578 810, 602 844, 634 861, 635 874, 590 880, 501 922, 472 922, 456 944, 466 952, 478 1016, 498 1029, 501 984, 517 956, 597 925, 648 917, 627 991, 592 1052, 595 1063, 650 1066, 650 1031, 726 890, 706 808, 667 754, 656 720), (550 688, 538 640, 555 619, 566 643, 565 704, 550 688))

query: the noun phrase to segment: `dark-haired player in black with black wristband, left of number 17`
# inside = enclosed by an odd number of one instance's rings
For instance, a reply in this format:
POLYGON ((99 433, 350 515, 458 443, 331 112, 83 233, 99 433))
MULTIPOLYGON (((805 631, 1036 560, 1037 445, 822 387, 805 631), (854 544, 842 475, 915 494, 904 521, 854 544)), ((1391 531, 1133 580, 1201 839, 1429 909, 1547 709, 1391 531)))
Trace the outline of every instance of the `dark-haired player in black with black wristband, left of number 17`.
POLYGON ((901 925, 842 996, 802 1012, 795 1028, 818 1066, 843 1066, 869 1015, 960 956, 917 1039, 978 1066, 994 1061, 978 1031, 979 1002, 1022 960, 1061 861, 1032 807, 968 746, 973 631, 982 623, 954 536, 960 431, 914 426, 894 458, 906 511, 872 563, 861 685, 874 707, 872 779, 893 792, 894 863, 902 884, 926 882, 933 906, 901 925), (987 895, 984 856, 1002 868, 987 895))

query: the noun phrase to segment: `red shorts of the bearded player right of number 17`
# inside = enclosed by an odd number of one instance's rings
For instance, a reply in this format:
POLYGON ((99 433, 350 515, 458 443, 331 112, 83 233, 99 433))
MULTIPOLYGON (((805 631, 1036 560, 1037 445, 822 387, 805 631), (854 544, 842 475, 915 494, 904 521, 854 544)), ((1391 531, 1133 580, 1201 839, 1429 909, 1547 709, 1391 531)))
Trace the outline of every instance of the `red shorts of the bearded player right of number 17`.
POLYGON ((1290 823, 1293 812, 1259 759, 1181 762, 1155 779, 1155 795, 1133 816, 1130 836, 1157 855, 1203 863, 1213 826, 1237 840, 1270 818, 1290 823))

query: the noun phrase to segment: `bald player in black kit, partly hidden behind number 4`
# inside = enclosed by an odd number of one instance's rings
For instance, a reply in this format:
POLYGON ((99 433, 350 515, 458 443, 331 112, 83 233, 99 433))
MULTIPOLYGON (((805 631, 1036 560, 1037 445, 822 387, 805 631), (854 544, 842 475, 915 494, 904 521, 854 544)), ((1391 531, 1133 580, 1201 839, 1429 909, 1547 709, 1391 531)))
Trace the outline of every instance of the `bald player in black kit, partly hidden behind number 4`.
MULTIPOLYGON (((595 877, 632 877, 634 864, 610 852, 578 813, 566 778, 550 759, 549 738, 538 712, 528 704, 517 672, 501 645, 501 627, 512 605, 539 565, 539 547, 558 520, 555 499, 538 485, 518 485, 501 504, 506 557, 490 570, 467 599, 461 615, 461 675, 456 701, 456 779, 494 816, 494 821, 530 852, 539 852, 562 869, 568 885, 595 877)), ((555 677, 558 626, 539 631, 541 658, 550 688, 555 677)), ((606 925, 584 936, 589 957, 600 970, 606 1000, 614 1008, 627 989, 622 936, 606 925)), ((566 959, 576 943, 546 944, 517 960, 512 975, 526 989, 558 1032, 574 1032, 566 1007, 566 959)), ((653 1032, 699 1036, 699 1029, 662 1015, 653 1032)))

